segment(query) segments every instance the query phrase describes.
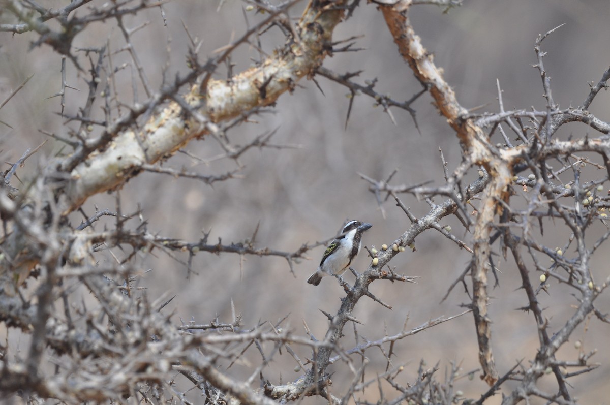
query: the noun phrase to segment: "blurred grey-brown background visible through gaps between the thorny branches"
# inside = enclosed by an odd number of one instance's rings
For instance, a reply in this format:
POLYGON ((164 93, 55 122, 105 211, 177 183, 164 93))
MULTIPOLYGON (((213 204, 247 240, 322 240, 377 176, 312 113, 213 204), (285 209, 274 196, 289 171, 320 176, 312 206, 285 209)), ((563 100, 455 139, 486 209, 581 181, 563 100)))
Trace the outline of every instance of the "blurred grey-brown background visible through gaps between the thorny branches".
MULTIPOLYGON (((92 4, 101 7, 102 2, 94 0, 92 4)), ((300 16, 305 4, 304 1, 296 4, 292 16, 300 16)), ((63 2, 59 1, 45 2, 45 7, 62 5, 63 2)), ((168 65, 166 74, 169 79, 176 73, 187 71, 188 38, 184 26, 188 27, 192 37, 203 41, 199 54, 200 60, 204 61, 207 56, 213 56, 215 49, 245 32, 248 25, 244 15, 249 26, 265 18, 265 15, 245 12, 246 4, 241 1, 226 0, 220 9, 218 5, 218 1, 168 2, 163 5, 167 25, 163 24, 158 8, 124 18, 128 27, 148 22, 133 38, 152 88, 157 89, 162 84, 165 65, 168 65)), ((503 88, 507 110, 529 109, 531 106, 545 109, 539 73, 531 66, 536 63, 534 41, 539 34, 560 24, 565 26, 543 43, 543 49, 548 52, 544 59, 545 68, 551 76, 555 101, 564 108, 580 104, 589 91, 587 82, 599 81, 608 67, 610 24, 607 10, 606 0, 466 0, 462 7, 449 13, 443 13, 439 7, 420 5, 412 7, 410 15, 423 45, 434 54, 437 65, 444 68, 445 78, 456 91, 459 102, 469 109, 483 106, 478 112, 496 112, 496 80, 503 88)), ((84 12, 77 11, 79 15, 84 12)), ((354 36, 359 37, 356 47, 364 50, 335 54, 325 60, 324 66, 337 73, 362 70, 354 81, 364 84, 365 80, 377 78, 376 90, 390 93, 395 99, 406 100, 420 91, 420 84, 398 54, 375 5, 362 2, 354 16, 337 27, 334 40, 354 36)), ((49 98, 60 90, 60 56, 46 46, 30 49, 30 44, 36 39, 37 35, 32 33, 0 34, 0 100, 34 74, 26 87, 0 109, 0 121, 12 126, 10 129, 0 124, 0 159, 4 162, 15 162, 27 148, 35 148, 46 140, 47 137, 39 130, 67 137, 71 129, 77 128, 77 123, 67 122, 59 115, 59 98, 49 98)), ((271 52, 284 43, 277 29, 271 29, 260 40, 265 52, 271 52)), ((124 46, 121 32, 112 23, 89 27, 77 35, 73 45, 84 48, 106 44, 113 53, 115 66, 130 62, 126 52, 121 52, 124 46)), ((78 55, 79 62, 88 68, 84 54, 78 55)), ((245 70, 252 59, 258 58, 256 49, 241 46, 232 59, 234 72, 245 70)), ((76 115, 87 96, 87 85, 83 81, 87 76, 78 73, 69 61, 67 65, 68 85, 80 91, 68 90, 65 113, 76 115)), ((220 69, 216 77, 225 75, 226 70, 220 69)), ((102 76, 102 80, 106 78, 106 75, 102 76)), ((129 66, 117 73, 115 80, 122 101, 134 102, 129 66)), ((324 77, 318 76, 317 80, 324 94, 312 81, 301 81, 292 95, 285 94, 279 99, 273 113, 257 116, 256 122, 242 124, 228 134, 231 142, 244 145, 257 135, 277 129, 271 138, 272 143, 298 147, 252 149, 240 160, 243 164, 240 178, 215 183, 213 187, 197 181, 143 173, 121 190, 121 210, 124 213, 135 212, 139 207, 152 233, 193 242, 203 237, 203 232, 210 232, 210 242, 217 242, 218 238, 223 243, 242 242, 251 238, 258 227, 257 247, 268 246, 290 252, 303 243, 327 240, 336 234, 345 220, 359 219, 373 224, 364 236, 368 248, 375 246, 379 249, 383 243, 391 244, 406 231, 409 220, 390 200, 382 204, 384 217, 375 196, 368 191, 368 184, 362 181, 359 173, 385 179, 397 170, 392 179, 394 185, 424 181, 442 185, 439 148, 448 160, 450 172, 453 171, 461 160, 456 136, 431 105, 427 94, 414 103, 420 132, 408 113, 393 109, 395 125, 381 107, 373 108, 373 99, 366 96, 354 99, 346 125, 349 102, 346 95, 349 91, 324 77)), ((145 95, 142 88, 138 94, 142 101, 145 95)), ((601 120, 610 120, 609 100, 608 94, 602 91, 590 111, 601 120)), ((103 116, 99 105, 94 110, 99 117, 103 116)), ((558 137, 584 137, 587 132, 592 137, 598 136, 583 124, 572 124, 562 128, 558 137)), ((98 133, 99 130, 95 129, 92 136, 98 133)), ((500 142, 500 138, 496 142, 500 142)), ((49 141, 40 153, 30 157, 18 174, 24 178, 34 176, 37 167, 44 165, 62 148, 65 152, 65 146, 49 141)), ((202 159, 212 159, 221 154, 217 143, 210 138, 192 142, 185 150, 202 159)), ((554 164, 559 167, 558 163, 554 164)), ((184 154, 177 154, 165 165, 203 174, 222 174, 235 169, 235 163, 229 160, 214 160, 206 164, 184 154)), ((467 180, 476 176, 476 170, 473 170, 467 180)), ((592 170, 587 180, 600 176, 603 174, 595 174, 592 170)), ((525 201, 520 196, 514 198, 525 201)), ((437 203, 442 201, 436 199, 437 203)), ((404 195, 403 202, 417 217, 429 210, 425 201, 417 201, 412 196, 404 195)), ((106 194, 95 196, 85 204, 84 210, 92 215, 95 207, 116 210, 115 198, 106 194)), ((75 225, 81 220, 81 215, 74 214, 75 225)), ((109 220, 110 226, 112 223, 109 220)), ((137 226, 137 220, 131 223, 134 228, 137 226)), ((464 231, 456 218, 445 218, 442 224, 451 225, 454 234, 472 246, 472 235, 464 231)), ((96 226, 103 227, 103 221, 96 226)), ((534 236, 541 242, 548 246, 563 246, 567 242, 569 230, 561 223, 548 222, 545 226, 544 235, 540 235, 538 229, 534 231, 537 232, 534 236)), ((592 242, 606 231, 601 223, 598 228, 598 234, 589 235, 592 242)), ((391 265, 397 273, 419 277, 417 284, 373 283, 372 292, 393 309, 362 299, 354 314, 364 323, 358 328, 362 337, 376 340, 386 333, 397 334, 403 329, 407 317, 407 328, 414 328, 431 318, 458 314, 464 310, 460 305, 470 302, 462 285, 441 302, 448 287, 464 271, 470 254, 436 231, 420 235, 415 246, 417 251, 407 249, 393 259, 391 265)), ((165 309, 167 314, 173 312, 171 319, 176 324, 190 320, 206 323, 216 317, 220 321, 231 321, 232 302, 235 310, 242 314, 245 328, 262 321, 276 323, 287 316, 284 328, 304 335, 303 322, 306 322, 312 333, 323 339, 328 321, 320 309, 334 314, 343 296, 339 284, 331 278, 324 279, 318 287, 306 284, 323 251, 323 246, 310 251, 311 260, 295 265, 295 274, 290 272, 284 259, 200 253, 193 260, 193 270, 198 275, 190 279, 187 279, 187 269, 182 263, 155 251, 156 256, 138 259, 143 270, 152 270, 142 274, 140 286, 146 287, 151 301, 162 294, 168 297, 177 295, 165 309)), ((598 279, 609 275, 606 255, 600 251, 592 263, 592 271, 598 279)), ((187 254, 178 254, 177 257, 183 261, 188 258, 187 254)), ((364 271, 367 264, 367 257, 361 254, 353 267, 364 271)), ((518 310, 527 303, 525 293, 519 289, 519 274, 512 262, 498 259, 496 265, 500 270, 500 284, 490 289, 492 301, 489 311, 493 320, 492 346, 498 372, 502 375, 520 359, 525 359, 524 366, 527 367, 527 359, 536 354, 538 340, 533 315, 518 310)), ((532 267, 533 284, 538 284, 539 275, 532 267)), ((346 280, 352 282, 353 276, 348 274, 346 280)), ((578 304, 571 292, 564 285, 551 282, 548 294, 542 292, 539 296, 546 308, 551 333, 561 328, 578 304)), ((608 312, 610 300, 602 296, 597 307, 602 313, 608 312)), ((610 372, 608 332, 608 325, 591 319, 587 322, 587 329, 581 327, 573 335, 573 341, 559 352, 561 359, 575 359, 579 349, 572 343, 576 339, 581 340, 581 350, 585 352, 599 349, 592 360, 600 362, 600 370, 570 380, 573 384, 570 392, 581 403, 607 400, 610 372)), ((355 344, 351 325, 346 327, 345 333, 341 344, 350 348, 355 344)), ((463 375, 479 368, 471 315, 401 340, 394 350, 397 352, 394 365, 406 365, 398 377, 404 385, 414 380, 420 359, 426 360, 427 367, 439 364, 437 378, 440 380, 450 362, 459 364, 463 375)), ((309 358, 307 352, 307 349, 300 348, 298 354, 301 358, 309 358)), ((381 373, 386 362, 375 349, 367 351, 367 355, 371 364, 366 379, 374 378, 375 371, 381 373)), ((260 358, 255 352, 251 356, 255 362, 260 358)), ((280 379, 292 381, 302 374, 302 371, 293 371, 294 366, 286 354, 276 356, 264 371, 265 378, 274 383, 280 379)), ((239 366, 232 370, 244 376, 251 372, 239 366)), ((353 376, 342 364, 331 367, 331 371, 336 371, 333 391, 343 395, 353 376)), ((466 397, 478 399, 487 390, 486 384, 478 378, 479 374, 476 371, 475 378, 460 379, 456 389, 462 390, 466 397)), ((543 382, 542 387, 554 390, 553 378, 548 376, 545 379, 548 379, 548 385, 543 382)), ((506 384, 506 388, 511 386, 511 383, 506 384)), ((390 390, 387 393, 394 395, 390 390)), ((367 395, 375 401, 379 394, 371 389, 367 395)), ((500 395, 497 395, 486 403, 497 404, 500 400, 500 395)), ((321 403, 322 399, 307 398, 305 401, 321 403)), ((531 403, 542 402, 533 400, 531 403)))

